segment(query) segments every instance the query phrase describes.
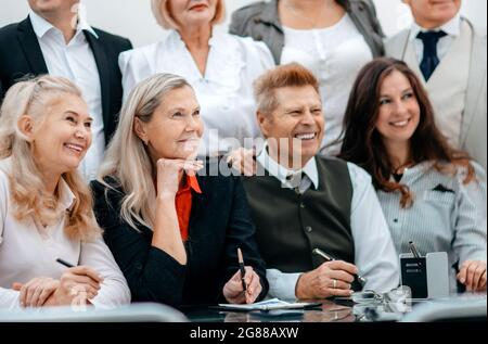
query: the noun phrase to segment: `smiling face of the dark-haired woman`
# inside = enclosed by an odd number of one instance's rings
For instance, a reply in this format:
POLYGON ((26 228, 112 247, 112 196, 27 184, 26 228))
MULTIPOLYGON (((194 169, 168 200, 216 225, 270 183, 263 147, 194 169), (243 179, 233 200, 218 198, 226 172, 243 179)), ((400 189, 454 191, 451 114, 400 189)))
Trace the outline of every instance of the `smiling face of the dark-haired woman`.
POLYGON ((420 106, 409 79, 394 71, 381 87, 376 129, 386 148, 409 144, 420 122, 420 106))

